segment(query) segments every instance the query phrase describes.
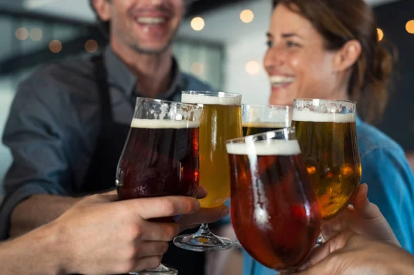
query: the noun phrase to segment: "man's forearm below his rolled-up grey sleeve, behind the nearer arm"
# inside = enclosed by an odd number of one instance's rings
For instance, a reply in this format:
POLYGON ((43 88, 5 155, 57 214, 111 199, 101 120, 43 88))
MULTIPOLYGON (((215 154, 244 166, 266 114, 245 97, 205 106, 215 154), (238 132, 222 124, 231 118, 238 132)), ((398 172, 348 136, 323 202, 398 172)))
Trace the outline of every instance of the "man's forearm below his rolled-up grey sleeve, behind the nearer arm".
POLYGON ((28 231, 55 220, 81 198, 52 195, 35 195, 14 208, 10 218, 10 237, 26 234, 28 231))

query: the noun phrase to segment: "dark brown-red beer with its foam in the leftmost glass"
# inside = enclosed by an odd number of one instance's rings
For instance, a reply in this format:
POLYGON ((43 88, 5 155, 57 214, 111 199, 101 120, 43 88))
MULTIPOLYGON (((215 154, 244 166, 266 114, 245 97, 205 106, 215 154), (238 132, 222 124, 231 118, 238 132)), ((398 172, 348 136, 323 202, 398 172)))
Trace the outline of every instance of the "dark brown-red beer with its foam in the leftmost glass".
POLYGON ((195 196, 199 122, 134 118, 117 171, 121 200, 195 196))

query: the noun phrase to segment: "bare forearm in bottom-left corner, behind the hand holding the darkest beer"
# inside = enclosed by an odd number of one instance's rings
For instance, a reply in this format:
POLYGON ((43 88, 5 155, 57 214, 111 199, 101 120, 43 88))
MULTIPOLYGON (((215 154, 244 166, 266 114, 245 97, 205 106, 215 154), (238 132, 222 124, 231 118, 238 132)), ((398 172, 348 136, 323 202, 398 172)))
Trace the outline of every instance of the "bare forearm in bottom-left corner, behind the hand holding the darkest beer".
POLYGON ((0 245, 0 275, 66 274, 64 254, 58 234, 51 225, 44 225, 28 234, 0 245))

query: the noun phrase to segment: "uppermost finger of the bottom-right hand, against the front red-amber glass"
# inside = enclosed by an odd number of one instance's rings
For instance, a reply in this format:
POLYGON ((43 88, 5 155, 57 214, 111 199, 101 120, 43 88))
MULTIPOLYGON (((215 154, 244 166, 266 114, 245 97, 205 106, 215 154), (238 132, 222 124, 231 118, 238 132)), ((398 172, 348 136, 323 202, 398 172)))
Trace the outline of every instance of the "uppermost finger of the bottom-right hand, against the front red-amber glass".
POLYGON ((313 249, 313 252, 311 256, 309 256, 308 260, 306 260, 306 263, 299 267, 299 269, 308 269, 309 267, 312 267, 313 265, 319 263, 321 260, 324 260, 324 258, 329 256, 329 254, 335 252, 337 249, 344 247, 346 245, 346 242, 353 235, 355 234, 350 231, 346 231, 331 238, 331 240, 328 240, 328 242, 324 243, 320 247, 316 247, 313 249))

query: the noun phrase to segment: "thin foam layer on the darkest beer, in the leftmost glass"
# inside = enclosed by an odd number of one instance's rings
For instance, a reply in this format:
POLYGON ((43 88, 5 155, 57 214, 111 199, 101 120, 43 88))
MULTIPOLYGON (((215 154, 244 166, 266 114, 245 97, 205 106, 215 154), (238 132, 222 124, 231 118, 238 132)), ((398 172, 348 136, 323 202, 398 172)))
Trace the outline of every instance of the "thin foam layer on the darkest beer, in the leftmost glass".
POLYGON ((146 129, 185 129, 198 128, 199 126, 199 122, 190 122, 188 120, 144 120, 134 118, 131 122, 131 128, 146 129))

